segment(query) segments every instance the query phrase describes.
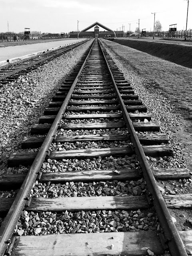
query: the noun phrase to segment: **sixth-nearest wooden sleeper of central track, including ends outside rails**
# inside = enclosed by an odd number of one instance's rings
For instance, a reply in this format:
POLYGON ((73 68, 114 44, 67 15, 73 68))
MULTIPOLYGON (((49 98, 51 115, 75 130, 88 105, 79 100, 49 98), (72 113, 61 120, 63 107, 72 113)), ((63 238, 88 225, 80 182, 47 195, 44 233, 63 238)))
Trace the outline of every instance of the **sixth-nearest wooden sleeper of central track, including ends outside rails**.
MULTIPOLYGON (((31 134, 45 134, 49 131, 51 124, 35 124, 31 128, 31 134)), ((159 131, 159 125, 155 122, 133 122, 133 127, 136 131, 159 131)), ((90 124, 62 124, 58 129, 64 130, 94 130, 94 129, 117 129, 126 128, 124 122, 104 122, 90 124)))

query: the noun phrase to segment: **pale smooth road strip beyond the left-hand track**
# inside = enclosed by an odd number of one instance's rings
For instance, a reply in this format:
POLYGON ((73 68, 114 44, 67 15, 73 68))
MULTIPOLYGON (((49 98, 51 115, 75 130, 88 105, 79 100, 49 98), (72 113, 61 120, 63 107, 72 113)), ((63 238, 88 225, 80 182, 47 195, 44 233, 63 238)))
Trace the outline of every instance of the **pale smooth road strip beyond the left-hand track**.
POLYGON ((35 52, 40 52, 48 49, 52 49, 59 46, 65 46, 70 43, 80 42, 84 39, 70 39, 70 40, 60 40, 52 42, 41 42, 38 44, 26 44, 19 46, 8 46, 0 48, 0 61, 8 60, 12 58, 21 57, 27 54, 32 54, 35 52))

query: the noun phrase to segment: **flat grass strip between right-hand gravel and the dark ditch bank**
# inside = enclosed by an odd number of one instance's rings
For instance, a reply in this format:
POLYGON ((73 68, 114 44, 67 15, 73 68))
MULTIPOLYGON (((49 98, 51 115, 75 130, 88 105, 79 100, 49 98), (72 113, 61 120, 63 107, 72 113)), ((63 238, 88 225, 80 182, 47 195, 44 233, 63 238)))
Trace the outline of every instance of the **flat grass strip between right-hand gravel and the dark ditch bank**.
MULTIPOLYGON (((192 69, 157 58, 145 52, 103 41, 117 56, 126 60, 139 74, 152 81, 177 108, 186 110, 192 118, 192 69)), ((189 47, 191 48, 191 47, 189 47)))

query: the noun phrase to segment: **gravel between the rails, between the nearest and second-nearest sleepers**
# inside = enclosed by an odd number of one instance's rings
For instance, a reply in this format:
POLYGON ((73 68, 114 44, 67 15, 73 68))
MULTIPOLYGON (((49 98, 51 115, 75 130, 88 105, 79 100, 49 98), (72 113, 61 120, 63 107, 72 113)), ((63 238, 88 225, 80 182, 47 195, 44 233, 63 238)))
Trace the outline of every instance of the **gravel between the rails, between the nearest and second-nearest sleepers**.
POLYGON ((154 209, 148 211, 53 212, 23 211, 14 235, 127 232, 161 230, 154 209))

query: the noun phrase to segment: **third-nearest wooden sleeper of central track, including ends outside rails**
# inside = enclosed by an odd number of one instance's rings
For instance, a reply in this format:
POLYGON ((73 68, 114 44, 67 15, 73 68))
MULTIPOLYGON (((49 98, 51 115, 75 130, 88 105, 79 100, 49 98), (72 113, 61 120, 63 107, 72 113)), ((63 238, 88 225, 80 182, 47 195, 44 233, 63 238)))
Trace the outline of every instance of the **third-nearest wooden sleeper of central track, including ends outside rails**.
MULTIPOLYGON (((138 169, 120 169, 120 174, 116 174, 113 170, 90 170, 82 172, 49 172, 42 173, 40 182, 48 181, 53 183, 64 182, 92 182, 101 180, 136 180, 142 178, 138 173, 138 169)), ((159 180, 164 179, 184 179, 190 178, 187 169, 152 169, 154 177, 159 180)), ((0 175, 0 186, 13 186, 21 184, 24 181, 26 174, 2 174, 0 175)))

